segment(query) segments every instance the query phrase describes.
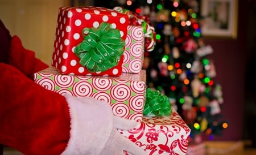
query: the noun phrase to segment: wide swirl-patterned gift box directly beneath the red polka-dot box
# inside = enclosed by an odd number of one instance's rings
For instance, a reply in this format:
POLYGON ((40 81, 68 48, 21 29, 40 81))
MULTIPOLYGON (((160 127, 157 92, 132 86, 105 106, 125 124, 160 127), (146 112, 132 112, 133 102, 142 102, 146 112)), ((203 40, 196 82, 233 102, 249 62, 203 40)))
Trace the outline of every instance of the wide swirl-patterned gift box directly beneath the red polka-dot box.
POLYGON ((87 96, 105 101, 114 115, 141 122, 146 93, 146 71, 120 76, 63 75, 55 67, 34 74, 35 83, 72 96, 87 96))

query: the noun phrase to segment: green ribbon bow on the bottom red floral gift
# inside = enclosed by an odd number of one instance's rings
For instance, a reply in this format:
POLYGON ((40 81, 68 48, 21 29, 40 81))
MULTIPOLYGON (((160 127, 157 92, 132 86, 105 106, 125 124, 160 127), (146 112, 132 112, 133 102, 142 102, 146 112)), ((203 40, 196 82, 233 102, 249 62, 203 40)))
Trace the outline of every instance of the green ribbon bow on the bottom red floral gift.
POLYGON ((146 104, 143 110, 144 115, 170 116, 172 114, 171 103, 166 95, 159 91, 146 89, 146 104))

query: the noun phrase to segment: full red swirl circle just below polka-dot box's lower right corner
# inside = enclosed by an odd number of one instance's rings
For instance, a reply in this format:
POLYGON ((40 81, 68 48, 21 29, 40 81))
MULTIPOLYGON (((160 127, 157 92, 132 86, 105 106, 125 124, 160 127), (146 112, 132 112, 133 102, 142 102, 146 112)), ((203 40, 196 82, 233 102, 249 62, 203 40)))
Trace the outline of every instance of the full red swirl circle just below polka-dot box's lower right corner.
POLYGON ((126 84, 116 84, 111 89, 111 97, 118 102, 127 101, 131 96, 131 90, 126 84))

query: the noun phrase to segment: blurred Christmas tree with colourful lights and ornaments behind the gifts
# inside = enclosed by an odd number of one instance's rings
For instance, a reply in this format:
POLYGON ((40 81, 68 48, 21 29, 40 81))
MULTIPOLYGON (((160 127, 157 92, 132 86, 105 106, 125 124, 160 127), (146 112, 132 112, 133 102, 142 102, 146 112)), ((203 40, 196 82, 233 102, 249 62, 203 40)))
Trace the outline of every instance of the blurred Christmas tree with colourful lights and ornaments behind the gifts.
POLYGON ((145 51, 143 68, 147 87, 165 94, 197 134, 221 135, 228 124, 221 120, 221 85, 210 45, 200 32, 199 1, 114 1, 141 16, 148 16, 156 32, 156 46, 145 51), (122 2, 122 3, 121 3, 122 2))

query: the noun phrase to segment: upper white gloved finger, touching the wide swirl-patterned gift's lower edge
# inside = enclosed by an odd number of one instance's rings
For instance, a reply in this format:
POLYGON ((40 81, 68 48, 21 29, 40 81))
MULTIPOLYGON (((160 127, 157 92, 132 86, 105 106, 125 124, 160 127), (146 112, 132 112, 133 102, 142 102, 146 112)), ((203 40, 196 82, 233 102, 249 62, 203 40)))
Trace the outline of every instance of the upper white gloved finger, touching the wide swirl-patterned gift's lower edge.
POLYGON ((125 119, 114 116, 114 127, 122 130, 130 130, 137 126, 136 120, 125 119))

